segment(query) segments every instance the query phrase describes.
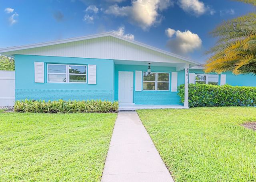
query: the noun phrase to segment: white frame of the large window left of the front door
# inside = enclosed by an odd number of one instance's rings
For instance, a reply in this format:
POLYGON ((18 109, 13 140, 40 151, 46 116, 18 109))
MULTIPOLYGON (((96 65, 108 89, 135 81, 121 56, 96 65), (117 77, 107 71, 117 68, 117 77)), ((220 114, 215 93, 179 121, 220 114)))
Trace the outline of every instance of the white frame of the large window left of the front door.
POLYGON ((79 84, 86 84, 87 83, 87 65, 64 65, 64 64, 47 64, 47 82, 48 83, 79 83, 79 84), (49 65, 60 65, 60 66, 66 66, 66 73, 49 73, 49 65), (86 74, 76 74, 76 73, 69 73, 69 66, 84 66, 86 69, 86 74), (49 81, 49 74, 64 74, 66 75, 66 82, 51 82, 49 81), (85 82, 69 82, 69 76, 70 75, 85 75, 86 80, 85 82))

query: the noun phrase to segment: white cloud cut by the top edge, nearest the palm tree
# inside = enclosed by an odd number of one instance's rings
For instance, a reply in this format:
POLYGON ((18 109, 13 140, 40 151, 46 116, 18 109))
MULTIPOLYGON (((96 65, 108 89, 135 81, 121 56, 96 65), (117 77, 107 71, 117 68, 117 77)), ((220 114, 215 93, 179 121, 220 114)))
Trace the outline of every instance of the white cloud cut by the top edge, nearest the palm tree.
POLYGON ((205 6, 204 3, 199 0, 179 0, 178 5, 185 12, 193 14, 197 17, 205 14, 207 11, 209 11, 211 15, 213 15, 215 12, 213 9, 211 9, 209 6, 205 6))

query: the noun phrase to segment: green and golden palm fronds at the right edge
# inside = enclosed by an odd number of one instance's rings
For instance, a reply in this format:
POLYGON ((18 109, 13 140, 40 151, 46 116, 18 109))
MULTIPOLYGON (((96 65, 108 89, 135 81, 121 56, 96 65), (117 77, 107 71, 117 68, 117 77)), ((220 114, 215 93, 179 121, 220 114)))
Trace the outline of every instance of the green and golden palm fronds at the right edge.
MULTIPOLYGON (((256 0, 236 0, 256 5, 256 0)), ((256 74, 256 14, 248 13, 232 20, 224 21, 212 32, 218 41, 206 54, 211 57, 204 65, 205 72, 221 74, 256 74)))

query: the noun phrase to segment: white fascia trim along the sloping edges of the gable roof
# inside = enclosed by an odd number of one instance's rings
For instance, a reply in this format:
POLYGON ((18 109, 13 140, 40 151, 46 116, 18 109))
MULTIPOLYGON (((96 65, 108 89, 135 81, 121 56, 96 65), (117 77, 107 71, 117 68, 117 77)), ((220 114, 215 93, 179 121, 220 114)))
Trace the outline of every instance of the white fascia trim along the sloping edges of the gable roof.
POLYGON ((152 46, 144 44, 144 43, 140 43, 138 41, 134 41, 132 39, 128 39, 126 37, 117 35, 113 32, 104 32, 104 33, 99 33, 99 34, 94 34, 94 35, 86 35, 86 36, 82 36, 82 37, 74 37, 74 38, 69 38, 69 39, 49 41, 49 42, 43 42, 43 43, 35 43, 35 44, 30 44, 30 45, 21 45, 21 46, 15 46, 15 47, 7 47, 7 48, 0 49, 0 53, 10 52, 10 51, 18 51, 18 50, 22 50, 22 49, 32 49, 32 48, 36 48, 36 47, 56 45, 56 44, 69 43, 69 42, 75 42, 75 41, 82 41, 82 40, 94 39, 94 38, 106 37, 106 36, 116 37, 117 39, 122 39, 123 41, 127 41, 127 42, 130 42, 130 43, 133 43, 133 44, 151 49, 153 51, 163 53, 165 55, 169 55, 169 56, 172 56, 172 57, 175 57, 175 58, 178 58, 178 59, 182 59, 182 60, 187 61, 188 63, 190 63, 192 65, 199 65, 200 64, 197 61, 194 61, 194 60, 188 59, 186 57, 182 57, 182 56, 170 53, 168 51, 164 51, 162 49, 158 49, 156 47, 152 47, 152 46))

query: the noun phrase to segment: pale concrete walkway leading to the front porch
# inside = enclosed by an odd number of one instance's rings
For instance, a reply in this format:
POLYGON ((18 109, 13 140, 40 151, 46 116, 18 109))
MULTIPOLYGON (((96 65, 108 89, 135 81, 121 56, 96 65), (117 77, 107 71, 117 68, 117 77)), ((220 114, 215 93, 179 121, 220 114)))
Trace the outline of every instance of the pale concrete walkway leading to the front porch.
POLYGON ((102 182, 173 182, 137 112, 119 112, 102 182))

